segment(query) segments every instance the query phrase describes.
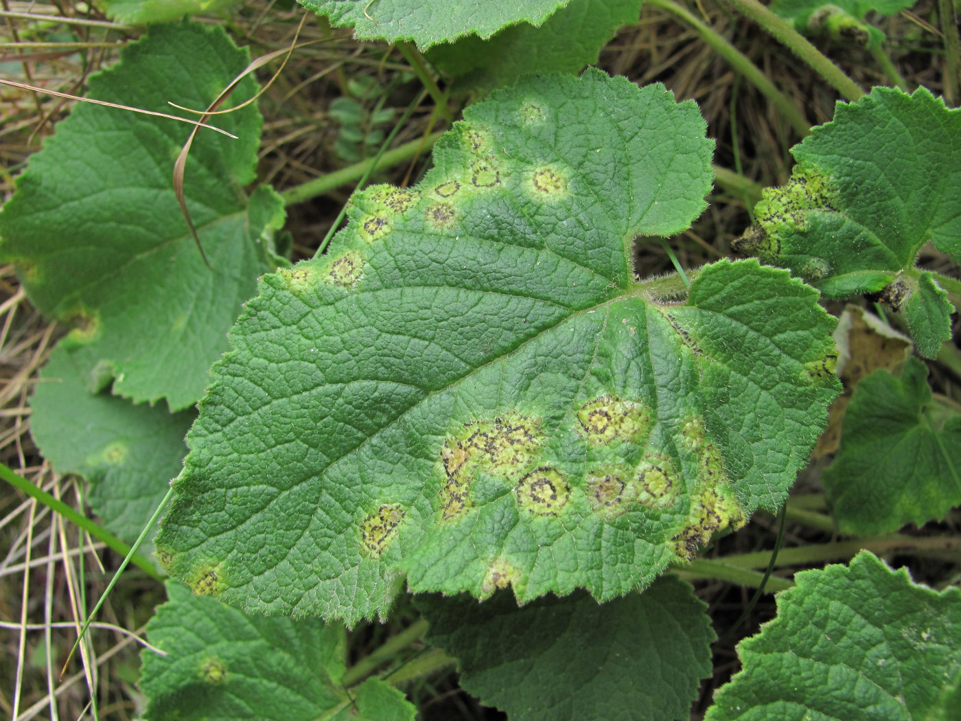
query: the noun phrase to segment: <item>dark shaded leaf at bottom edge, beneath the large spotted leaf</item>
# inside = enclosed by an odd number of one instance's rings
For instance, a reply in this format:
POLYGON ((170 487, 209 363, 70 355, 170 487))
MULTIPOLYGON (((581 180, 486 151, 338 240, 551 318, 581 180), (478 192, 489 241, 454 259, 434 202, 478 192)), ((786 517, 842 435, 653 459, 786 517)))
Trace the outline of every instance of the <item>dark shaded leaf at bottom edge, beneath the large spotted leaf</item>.
POLYGON ((507 592, 417 605, 427 640, 458 659, 463 688, 511 721, 687 718, 711 672, 706 607, 671 576, 603 606, 582 591, 520 609, 507 592))

